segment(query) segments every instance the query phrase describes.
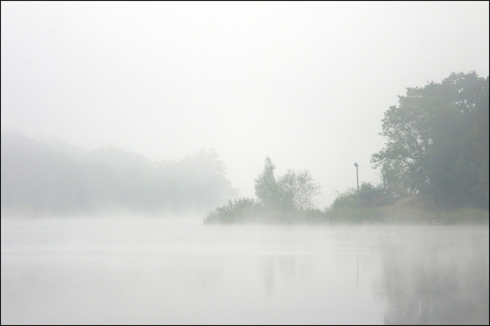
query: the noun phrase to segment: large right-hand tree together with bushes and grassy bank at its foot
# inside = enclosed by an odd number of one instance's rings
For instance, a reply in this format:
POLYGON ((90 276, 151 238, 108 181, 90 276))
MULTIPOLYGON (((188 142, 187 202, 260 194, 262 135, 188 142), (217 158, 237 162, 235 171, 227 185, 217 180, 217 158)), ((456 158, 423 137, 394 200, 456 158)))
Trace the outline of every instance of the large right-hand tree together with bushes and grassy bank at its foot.
POLYGON ((339 194, 331 222, 488 223, 489 77, 408 88, 382 123, 387 142, 371 159, 382 182, 339 194))

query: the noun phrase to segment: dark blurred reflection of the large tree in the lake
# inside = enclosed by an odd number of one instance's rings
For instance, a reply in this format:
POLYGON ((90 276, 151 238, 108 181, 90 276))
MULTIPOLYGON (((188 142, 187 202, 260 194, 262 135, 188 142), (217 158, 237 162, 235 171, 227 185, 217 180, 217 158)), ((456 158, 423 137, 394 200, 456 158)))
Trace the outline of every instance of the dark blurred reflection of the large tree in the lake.
POLYGON ((382 251, 385 324, 489 324, 486 231, 425 230, 382 251))

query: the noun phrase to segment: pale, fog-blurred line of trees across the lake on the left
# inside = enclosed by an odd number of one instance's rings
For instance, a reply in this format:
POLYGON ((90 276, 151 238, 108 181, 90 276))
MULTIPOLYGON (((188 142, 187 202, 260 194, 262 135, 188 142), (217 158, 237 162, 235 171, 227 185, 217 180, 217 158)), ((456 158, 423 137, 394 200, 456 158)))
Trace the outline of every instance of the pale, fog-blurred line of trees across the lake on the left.
POLYGON ((1 135, 2 214, 209 210, 234 195, 213 149, 155 163, 112 146, 84 151, 19 132, 1 135))

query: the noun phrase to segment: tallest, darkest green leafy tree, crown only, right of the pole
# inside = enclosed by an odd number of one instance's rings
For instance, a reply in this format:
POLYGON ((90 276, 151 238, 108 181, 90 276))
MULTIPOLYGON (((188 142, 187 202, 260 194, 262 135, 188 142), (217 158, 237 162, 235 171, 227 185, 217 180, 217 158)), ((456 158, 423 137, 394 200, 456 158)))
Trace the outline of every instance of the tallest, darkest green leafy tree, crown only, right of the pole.
POLYGON ((371 161, 391 193, 488 207, 489 77, 453 72, 441 83, 407 88, 382 122, 387 142, 371 161))

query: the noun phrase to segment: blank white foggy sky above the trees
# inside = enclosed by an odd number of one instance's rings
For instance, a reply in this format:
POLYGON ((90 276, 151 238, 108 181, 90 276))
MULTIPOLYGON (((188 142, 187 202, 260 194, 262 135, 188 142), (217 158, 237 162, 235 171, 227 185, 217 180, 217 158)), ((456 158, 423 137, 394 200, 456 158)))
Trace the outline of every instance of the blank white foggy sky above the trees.
POLYGON ((1 130, 154 161, 215 148, 254 197, 308 169, 319 207, 359 179, 406 87, 489 74, 489 2, 1 1, 1 130))

